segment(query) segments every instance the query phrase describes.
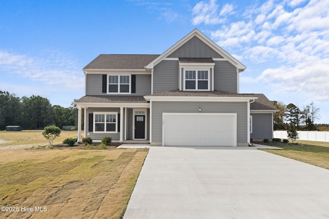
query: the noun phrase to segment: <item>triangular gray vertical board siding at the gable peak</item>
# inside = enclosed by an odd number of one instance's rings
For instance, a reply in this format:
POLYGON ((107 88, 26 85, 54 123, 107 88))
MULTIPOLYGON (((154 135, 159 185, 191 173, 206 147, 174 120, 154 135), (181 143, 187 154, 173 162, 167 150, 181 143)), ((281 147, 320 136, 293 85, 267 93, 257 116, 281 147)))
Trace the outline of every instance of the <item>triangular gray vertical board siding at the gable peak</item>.
POLYGON ((188 42, 172 52, 169 58, 223 58, 198 37, 192 37, 188 42))

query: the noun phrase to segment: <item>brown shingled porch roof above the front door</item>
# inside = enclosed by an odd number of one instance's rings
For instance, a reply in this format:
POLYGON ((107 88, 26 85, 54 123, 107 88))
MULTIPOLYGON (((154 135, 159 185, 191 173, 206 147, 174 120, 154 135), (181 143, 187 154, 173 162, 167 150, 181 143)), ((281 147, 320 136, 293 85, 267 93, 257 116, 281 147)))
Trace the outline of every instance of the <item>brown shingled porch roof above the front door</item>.
POLYGON ((75 103, 132 103, 145 104, 143 96, 83 96, 75 103))

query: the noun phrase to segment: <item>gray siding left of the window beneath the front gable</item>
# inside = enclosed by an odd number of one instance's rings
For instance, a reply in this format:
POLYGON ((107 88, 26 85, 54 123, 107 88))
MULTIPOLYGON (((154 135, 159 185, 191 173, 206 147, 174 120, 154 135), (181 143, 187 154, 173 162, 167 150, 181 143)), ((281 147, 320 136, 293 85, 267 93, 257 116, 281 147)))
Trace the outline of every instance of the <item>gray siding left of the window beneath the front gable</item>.
POLYGON ((178 89, 178 71, 178 60, 157 64, 153 72, 153 93, 178 89))

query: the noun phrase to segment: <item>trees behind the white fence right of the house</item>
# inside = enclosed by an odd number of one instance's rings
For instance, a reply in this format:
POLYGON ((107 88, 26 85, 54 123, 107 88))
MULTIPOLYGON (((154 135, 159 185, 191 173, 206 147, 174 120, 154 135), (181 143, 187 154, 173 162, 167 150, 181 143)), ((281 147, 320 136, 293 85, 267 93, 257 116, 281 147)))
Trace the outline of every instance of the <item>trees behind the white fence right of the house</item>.
MULTIPOLYGON (((315 124, 320 118, 320 108, 312 102, 302 108, 295 104, 285 105, 283 102, 272 101, 278 108, 278 112, 273 115, 274 130, 318 130, 321 125, 315 124)), ((328 126, 327 124, 322 124, 328 126)))

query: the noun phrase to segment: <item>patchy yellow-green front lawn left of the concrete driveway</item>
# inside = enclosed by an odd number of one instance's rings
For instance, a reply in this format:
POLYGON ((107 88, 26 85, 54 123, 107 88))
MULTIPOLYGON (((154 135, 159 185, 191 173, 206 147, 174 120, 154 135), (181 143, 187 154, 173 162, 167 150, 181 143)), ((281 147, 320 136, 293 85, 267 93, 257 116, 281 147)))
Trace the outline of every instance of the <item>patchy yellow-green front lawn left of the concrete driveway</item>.
POLYGON ((0 151, 0 212, 6 218, 120 218, 148 149, 0 151))

